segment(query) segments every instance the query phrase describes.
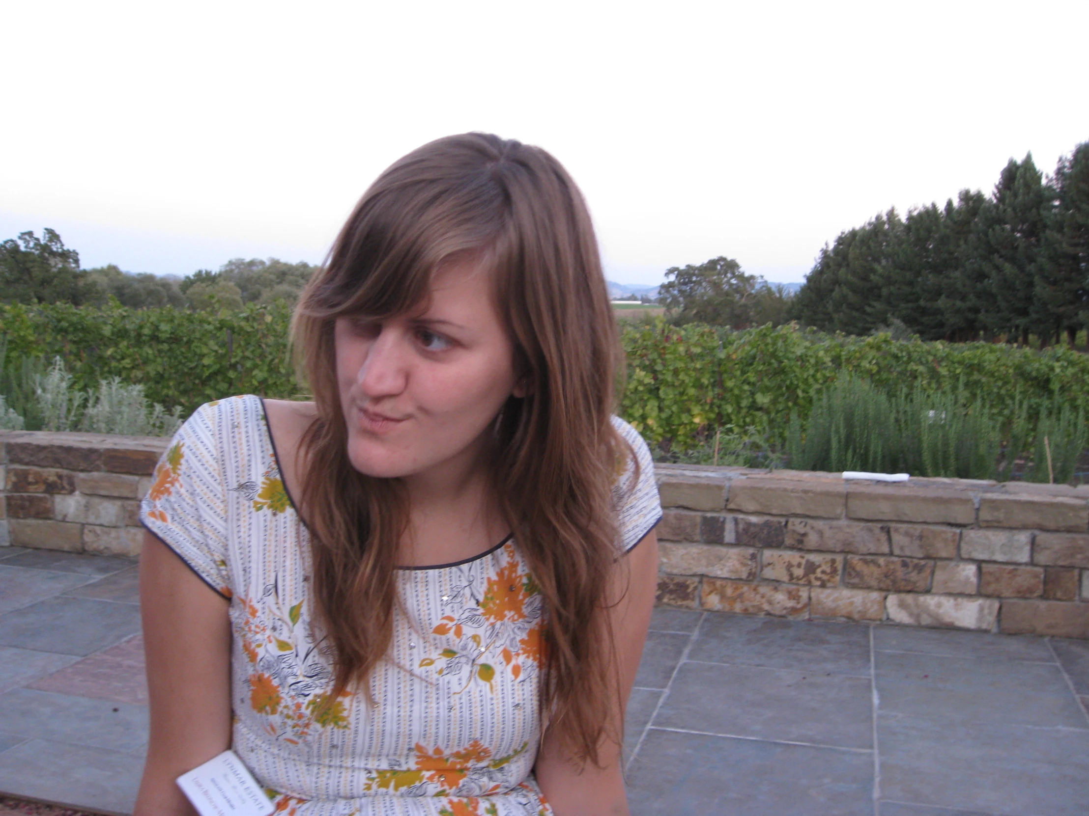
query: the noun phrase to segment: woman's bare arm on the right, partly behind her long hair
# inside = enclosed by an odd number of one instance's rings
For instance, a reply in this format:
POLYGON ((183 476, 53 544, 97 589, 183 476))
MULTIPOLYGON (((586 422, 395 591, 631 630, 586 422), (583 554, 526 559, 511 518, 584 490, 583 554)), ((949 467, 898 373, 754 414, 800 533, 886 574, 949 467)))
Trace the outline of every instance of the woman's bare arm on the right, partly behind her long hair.
MULTIPOLYGON (((616 570, 610 589, 610 601, 620 598, 610 611, 623 695, 611 713, 615 733, 623 733, 622 712, 639 670, 658 586, 658 535, 653 530, 624 556, 621 565, 626 569, 616 570)), ((555 816, 627 816, 622 746, 607 741, 600 761, 600 768, 589 763, 580 768, 564 755, 558 740, 544 733, 535 771, 555 816)))

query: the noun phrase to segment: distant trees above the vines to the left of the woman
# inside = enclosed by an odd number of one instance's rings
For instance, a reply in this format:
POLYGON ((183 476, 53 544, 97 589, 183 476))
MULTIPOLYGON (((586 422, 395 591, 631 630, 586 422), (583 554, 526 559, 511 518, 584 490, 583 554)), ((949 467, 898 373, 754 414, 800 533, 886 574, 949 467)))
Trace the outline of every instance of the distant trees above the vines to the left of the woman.
POLYGON ((283 300, 293 306, 316 267, 277 258, 235 258, 217 271, 191 275, 123 272, 115 264, 82 269, 79 254, 56 231, 20 233, 0 242, 0 302, 106 306, 132 309, 242 309, 246 304, 283 300))

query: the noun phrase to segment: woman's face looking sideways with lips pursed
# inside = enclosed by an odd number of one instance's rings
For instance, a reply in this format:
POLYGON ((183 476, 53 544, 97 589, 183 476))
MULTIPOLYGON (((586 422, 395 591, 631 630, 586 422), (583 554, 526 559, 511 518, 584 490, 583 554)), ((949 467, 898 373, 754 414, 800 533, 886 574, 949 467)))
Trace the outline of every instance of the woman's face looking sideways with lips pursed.
POLYGON ((478 262, 431 279, 429 307, 339 318, 334 338, 352 466, 371 477, 467 475, 513 394, 514 349, 478 262))

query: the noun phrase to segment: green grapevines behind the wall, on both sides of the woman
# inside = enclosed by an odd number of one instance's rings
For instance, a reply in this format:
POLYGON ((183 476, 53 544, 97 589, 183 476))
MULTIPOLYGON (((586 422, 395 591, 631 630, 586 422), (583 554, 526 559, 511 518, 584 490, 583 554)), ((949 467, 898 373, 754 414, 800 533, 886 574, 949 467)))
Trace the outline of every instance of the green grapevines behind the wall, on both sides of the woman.
MULTIPOLYGON (((293 397, 302 388, 289 359, 290 320, 283 302, 218 313, 0 305, 0 346, 7 348, 0 392, 28 425, 32 419, 40 423, 30 416, 27 387, 45 373, 42 361, 59 355, 76 391, 95 391, 100 381, 118 378, 142 385, 152 403, 181 406, 182 416, 230 394, 293 397)), ((906 390, 931 399, 953 394, 962 408, 986 406, 1006 447, 1015 449, 1002 459, 1000 478, 1008 478, 1014 460, 1036 444, 1045 415, 1055 422, 1066 416, 1072 428, 1085 429, 1077 418, 1079 401, 1089 394, 1089 357, 1068 348, 894 341, 889 334, 845 337, 795 325, 735 332, 695 323, 671 326, 661 319, 625 321, 621 341, 627 381, 620 413, 660 454, 675 460, 710 456, 713 461, 718 431, 720 463, 773 461, 768 455, 786 443, 792 415, 798 417, 795 431, 800 435, 813 401, 841 373, 868 380, 889 399, 901 399, 906 390)), ((922 465, 909 472, 963 471, 968 466, 954 467, 947 458, 938 462, 934 452, 947 449, 957 434, 970 438, 965 429, 977 422, 969 413, 954 417, 952 424, 918 424, 913 444, 922 465), (926 450, 933 465, 922 458, 926 450)), ((1059 448, 1068 444, 1073 450, 1078 438, 1075 431, 1049 432, 1053 468, 1059 448)), ((963 463, 972 457, 981 461, 982 454, 965 449, 957 456, 963 463)), ((1074 461, 1076 454, 1062 457, 1074 461)))

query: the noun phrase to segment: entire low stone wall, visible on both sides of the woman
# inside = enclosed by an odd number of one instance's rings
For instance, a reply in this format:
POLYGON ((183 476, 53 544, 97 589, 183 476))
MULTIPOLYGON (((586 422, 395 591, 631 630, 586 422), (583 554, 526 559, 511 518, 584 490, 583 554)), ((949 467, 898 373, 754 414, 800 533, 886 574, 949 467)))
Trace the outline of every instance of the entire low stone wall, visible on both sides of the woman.
MULTIPOLYGON (((137 555, 167 442, 0 431, 0 545, 137 555)), ((1089 638, 1089 485, 657 474, 662 604, 1089 638)))

